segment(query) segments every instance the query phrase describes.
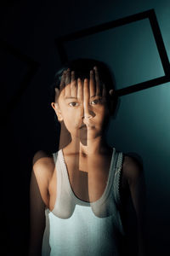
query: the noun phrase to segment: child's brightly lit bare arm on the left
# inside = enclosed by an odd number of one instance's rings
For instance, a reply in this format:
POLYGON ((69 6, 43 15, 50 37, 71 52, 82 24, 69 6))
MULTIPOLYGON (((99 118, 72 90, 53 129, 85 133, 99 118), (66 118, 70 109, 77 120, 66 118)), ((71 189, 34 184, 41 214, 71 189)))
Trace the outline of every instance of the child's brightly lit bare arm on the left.
POLYGON ((40 153, 33 159, 30 184, 30 247, 29 256, 42 255, 45 229, 45 207, 48 205, 48 178, 40 153))

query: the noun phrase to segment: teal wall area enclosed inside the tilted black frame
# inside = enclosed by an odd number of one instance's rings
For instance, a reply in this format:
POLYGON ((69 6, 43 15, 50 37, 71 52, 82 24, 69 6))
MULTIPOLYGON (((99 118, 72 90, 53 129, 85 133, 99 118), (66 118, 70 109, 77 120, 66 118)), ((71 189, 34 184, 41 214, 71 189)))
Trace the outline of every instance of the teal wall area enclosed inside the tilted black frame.
POLYGON ((114 73, 116 90, 165 75, 148 19, 67 41, 65 50, 69 60, 105 61, 114 73))

